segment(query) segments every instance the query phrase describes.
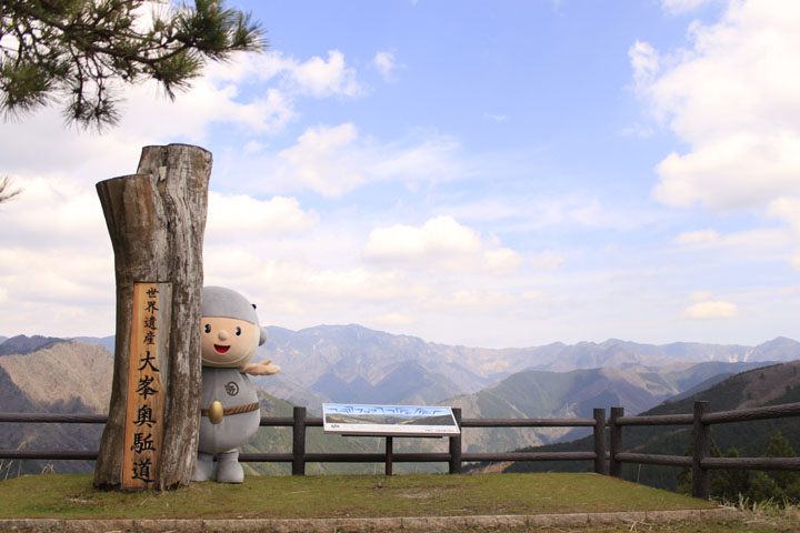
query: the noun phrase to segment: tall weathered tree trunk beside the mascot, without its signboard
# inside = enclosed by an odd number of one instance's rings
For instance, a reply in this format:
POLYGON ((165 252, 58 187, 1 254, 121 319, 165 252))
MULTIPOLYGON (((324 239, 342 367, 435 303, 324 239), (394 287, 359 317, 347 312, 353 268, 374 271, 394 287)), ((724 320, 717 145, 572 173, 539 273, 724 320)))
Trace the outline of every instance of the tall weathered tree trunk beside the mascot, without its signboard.
POLYGON ((210 152, 170 144, 143 148, 136 174, 97 184, 117 276, 113 383, 94 467, 99 489, 119 489, 126 467, 126 393, 138 282, 167 282, 172 289, 166 358, 159 362, 166 393, 161 465, 152 487, 176 489, 191 481, 201 398, 202 243, 210 175, 210 152))

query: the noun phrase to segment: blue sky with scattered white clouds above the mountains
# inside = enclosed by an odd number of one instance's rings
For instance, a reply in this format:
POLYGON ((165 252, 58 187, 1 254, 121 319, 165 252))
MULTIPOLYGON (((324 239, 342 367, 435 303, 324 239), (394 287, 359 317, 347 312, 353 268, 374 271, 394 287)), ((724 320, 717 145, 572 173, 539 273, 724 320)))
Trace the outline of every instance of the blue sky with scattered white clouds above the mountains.
POLYGON ((113 333, 97 181, 214 157, 206 281, 264 324, 489 348, 800 323, 800 4, 232 1, 270 48, 102 135, 0 125, 0 334, 113 333))

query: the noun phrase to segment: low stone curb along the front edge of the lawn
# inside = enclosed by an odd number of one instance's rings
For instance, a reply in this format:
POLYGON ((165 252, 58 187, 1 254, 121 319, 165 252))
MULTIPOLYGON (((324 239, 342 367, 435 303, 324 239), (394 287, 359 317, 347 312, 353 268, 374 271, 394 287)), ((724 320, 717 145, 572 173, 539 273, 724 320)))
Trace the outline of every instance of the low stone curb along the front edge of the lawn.
POLYGON ((462 527, 561 527, 624 524, 663 524, 684 521, 728 523, 739 520, 732 507, 618 513, 572 513, 481 516, 411 516, 393 519, 0 519, 0 532, 256 532, 297 533, 383 531, 447 531, 462 527))

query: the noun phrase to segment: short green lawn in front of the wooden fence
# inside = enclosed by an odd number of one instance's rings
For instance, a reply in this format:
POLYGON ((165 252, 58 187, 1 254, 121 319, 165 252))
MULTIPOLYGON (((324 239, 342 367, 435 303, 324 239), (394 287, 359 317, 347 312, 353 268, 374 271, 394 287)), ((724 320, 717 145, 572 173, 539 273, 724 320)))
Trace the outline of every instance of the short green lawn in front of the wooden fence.
POLYGON ((713 506, 596 474, 249 476, 239 485, 192 483, 164 493, 96 491, 87 474, 0 482, 0 519, 462 516, 713 506))

